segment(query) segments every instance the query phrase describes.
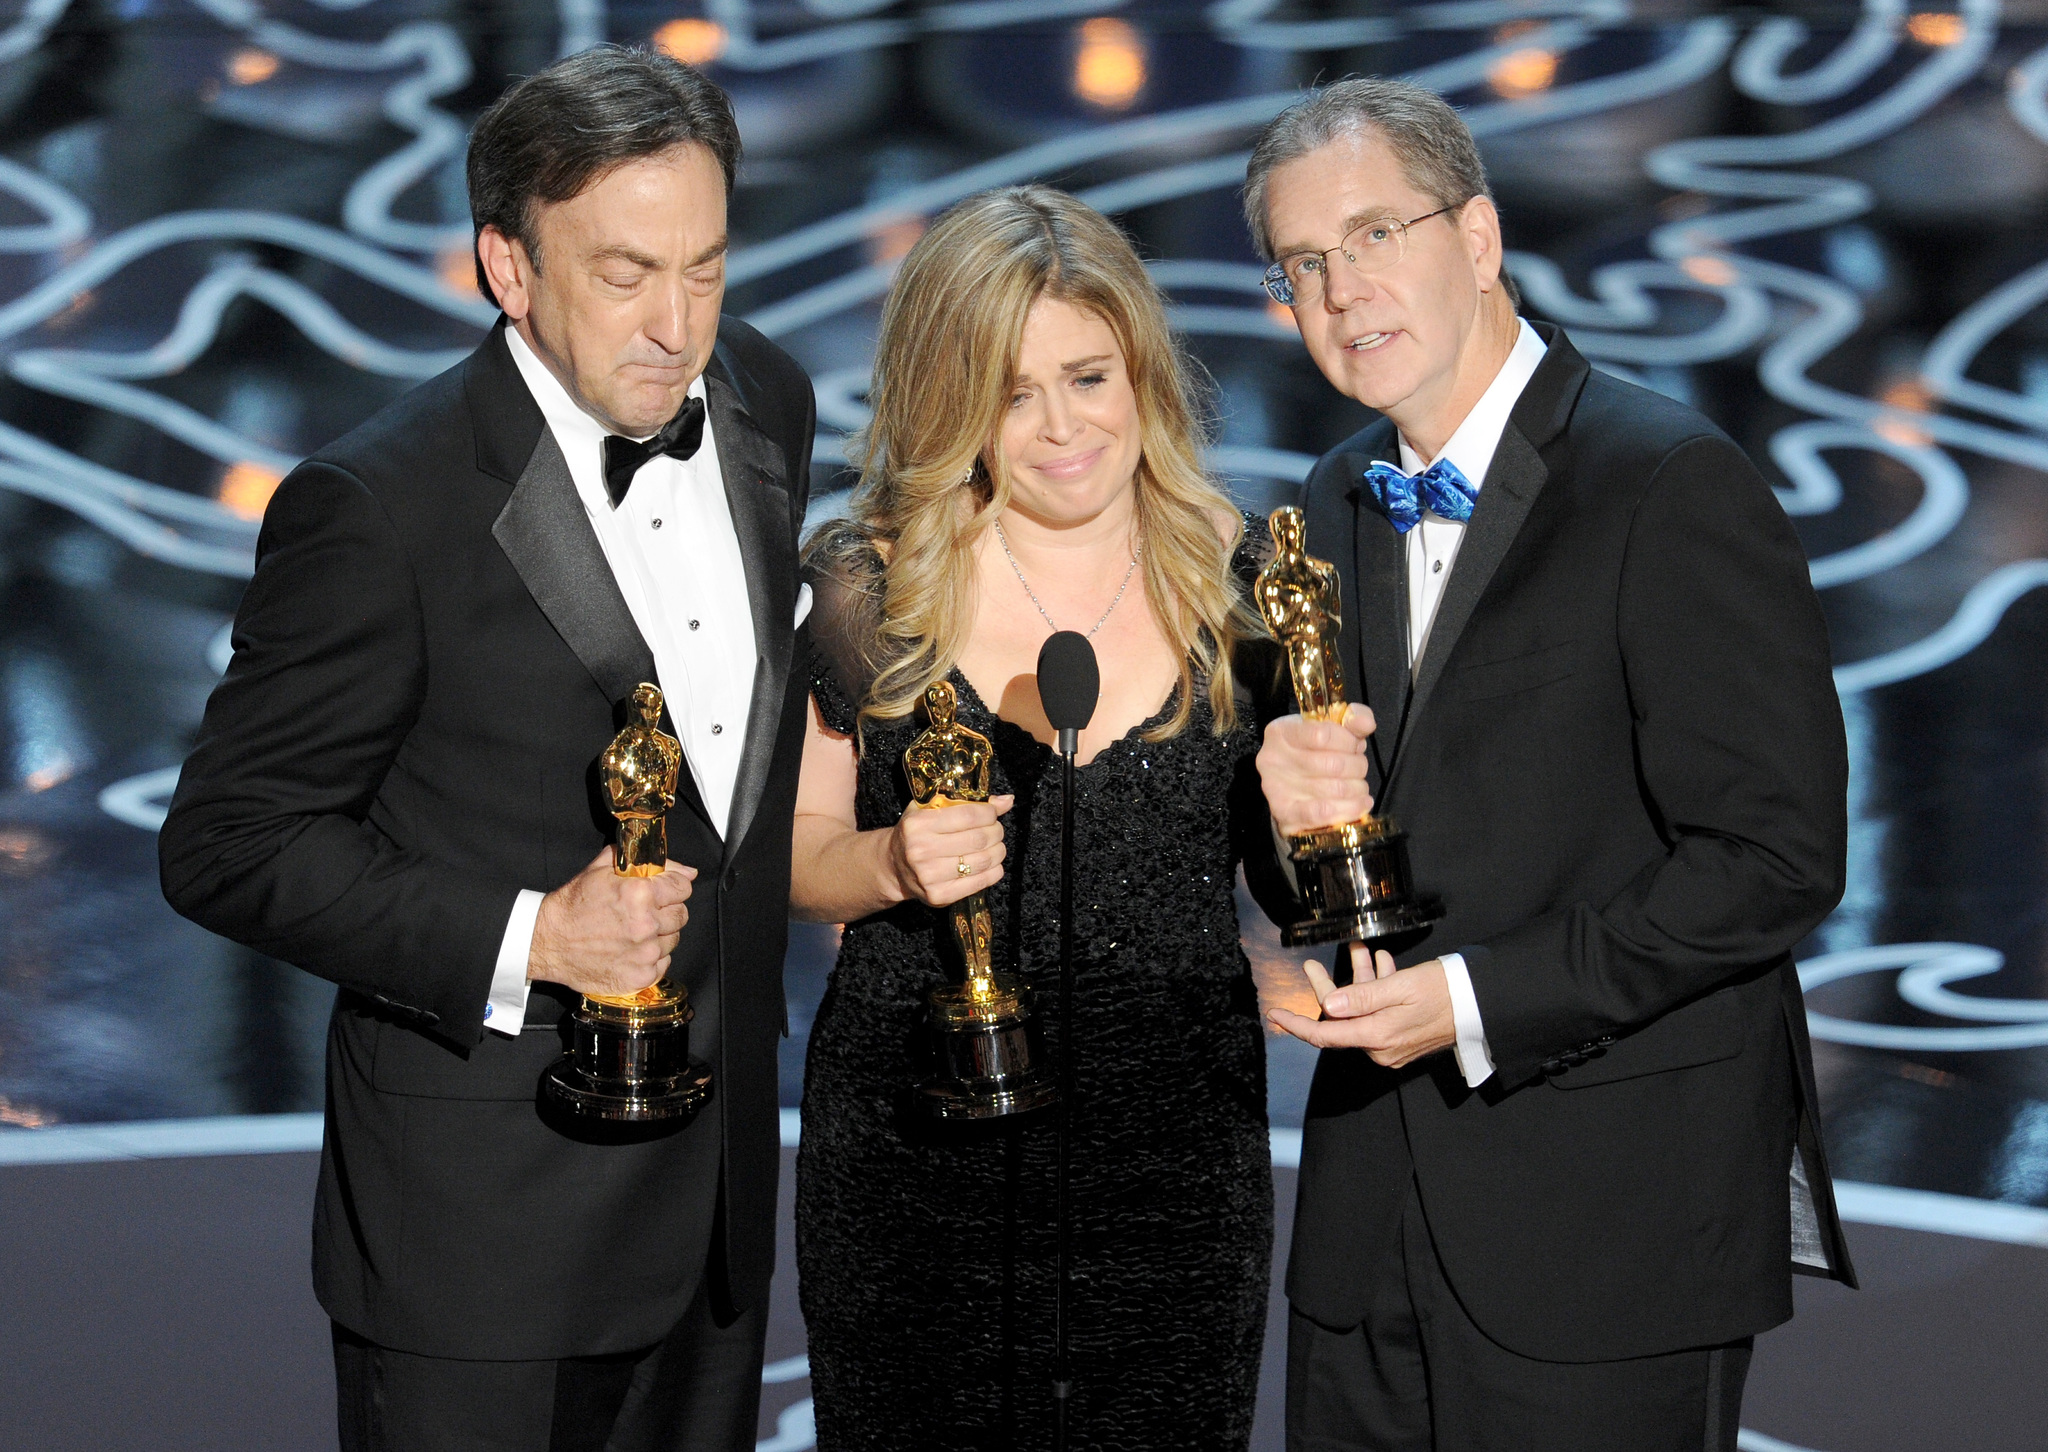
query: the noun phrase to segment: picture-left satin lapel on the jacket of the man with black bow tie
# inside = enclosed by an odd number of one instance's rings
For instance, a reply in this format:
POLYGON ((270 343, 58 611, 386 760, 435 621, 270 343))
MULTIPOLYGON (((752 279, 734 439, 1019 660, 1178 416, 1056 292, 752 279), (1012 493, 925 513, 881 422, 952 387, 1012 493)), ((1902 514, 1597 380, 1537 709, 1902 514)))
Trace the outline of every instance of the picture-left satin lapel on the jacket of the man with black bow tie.
MULTIPOLYGON (((492 535, 518 578, 526 582, 526 592, 541 606, 541 614, 555 627, 563 645, 575 651, 575 659, 584 661, 614 709, 643 680, 659 680, 653 651, 633 625, 633 610, 618 594, 604 547, 590 528, 582 500, 575 498, 575 479, 569 477, 561 444, 547 428, 541 430, 526 469, 512 485, 512 498, 498 512, 492 535)), ((592 741, 592 760, 602 750, 604 741, 592 741)), ((682 774, 676 793, 678 805, 688 805, 711 821, 696 780, 688 772, 682 774)))

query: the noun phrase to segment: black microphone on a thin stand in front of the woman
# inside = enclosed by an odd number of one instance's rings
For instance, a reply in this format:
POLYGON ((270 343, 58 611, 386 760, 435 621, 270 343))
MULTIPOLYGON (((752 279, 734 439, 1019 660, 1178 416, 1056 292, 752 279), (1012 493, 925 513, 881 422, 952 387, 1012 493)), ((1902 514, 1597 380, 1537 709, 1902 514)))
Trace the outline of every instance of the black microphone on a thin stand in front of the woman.
POLYGON ((1067 1139, 1073 1116, 1073 754, 1096 715, 1102 668, 1079 631, 1055 631, 1038 647, 1038 702, 1059 733, 1059 1120, 1053 1133, 1053 1448, 1067 1452, 1073 1372, 1067 1364, 1067 1139))

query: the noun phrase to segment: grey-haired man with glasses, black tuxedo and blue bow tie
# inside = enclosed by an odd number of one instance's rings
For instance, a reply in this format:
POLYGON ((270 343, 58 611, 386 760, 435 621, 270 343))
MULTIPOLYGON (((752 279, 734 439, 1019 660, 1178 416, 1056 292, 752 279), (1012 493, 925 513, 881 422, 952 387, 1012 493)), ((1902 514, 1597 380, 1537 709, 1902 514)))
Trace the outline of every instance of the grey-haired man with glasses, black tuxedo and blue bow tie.
POLYGON ((1790 956, 1841 895, 1847 776, 1798 539, 1710 422, 1516 315, 1432 92, 1296 104, 1245 207, 1384 416, 1303 496, 1366 704, 1268 729, 1268 805, 1288 834, 1376 797, 1448 909, 1313 969, 1321 1022, 1274 1014, 1323 1049, 1288 1444, 1733 1450, 1790 1272, 1853 1284, 1790 956))

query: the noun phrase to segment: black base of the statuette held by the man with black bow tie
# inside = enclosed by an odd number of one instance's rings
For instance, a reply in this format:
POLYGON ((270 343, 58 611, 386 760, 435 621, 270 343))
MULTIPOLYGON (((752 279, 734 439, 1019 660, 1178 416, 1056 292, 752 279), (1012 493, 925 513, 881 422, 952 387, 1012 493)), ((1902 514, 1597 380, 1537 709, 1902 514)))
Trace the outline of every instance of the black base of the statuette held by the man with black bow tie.
POLYGON ((711 1067, 690 1057, 688 991, 662 981, 633 997, 584 997, 569 1053, 541 1075, 563 1114, 604 1124, 682 1124, 711 1098, 711 1067))

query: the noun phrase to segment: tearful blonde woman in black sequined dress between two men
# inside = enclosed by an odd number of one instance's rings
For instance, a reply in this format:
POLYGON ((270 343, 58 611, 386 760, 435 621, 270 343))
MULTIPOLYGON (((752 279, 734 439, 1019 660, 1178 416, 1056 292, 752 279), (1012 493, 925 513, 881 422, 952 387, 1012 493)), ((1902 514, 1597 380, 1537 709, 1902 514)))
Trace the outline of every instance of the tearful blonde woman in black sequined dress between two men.
POLYGON ((1038 647, 1087 633, 1071 1102, 1073 1446, 1241 1448, 1272 1180, 1233 883, 1274 647, 1264 526, 1202 475, 1190 389, 1128 240, 1026 186, 961 203, 883 313, 852 518, 807 551, 815 686, 793 909, 844 922, 811 1028, 797 1264, 825 1452, 1051 1444, 1053 1124, 963 1130, 926 995, 946 903, 989 893, 997 969, 1051 1006, 1053 731, 1038 647), (995 743, 987 805, 905 811, 934 680, 995 743))

